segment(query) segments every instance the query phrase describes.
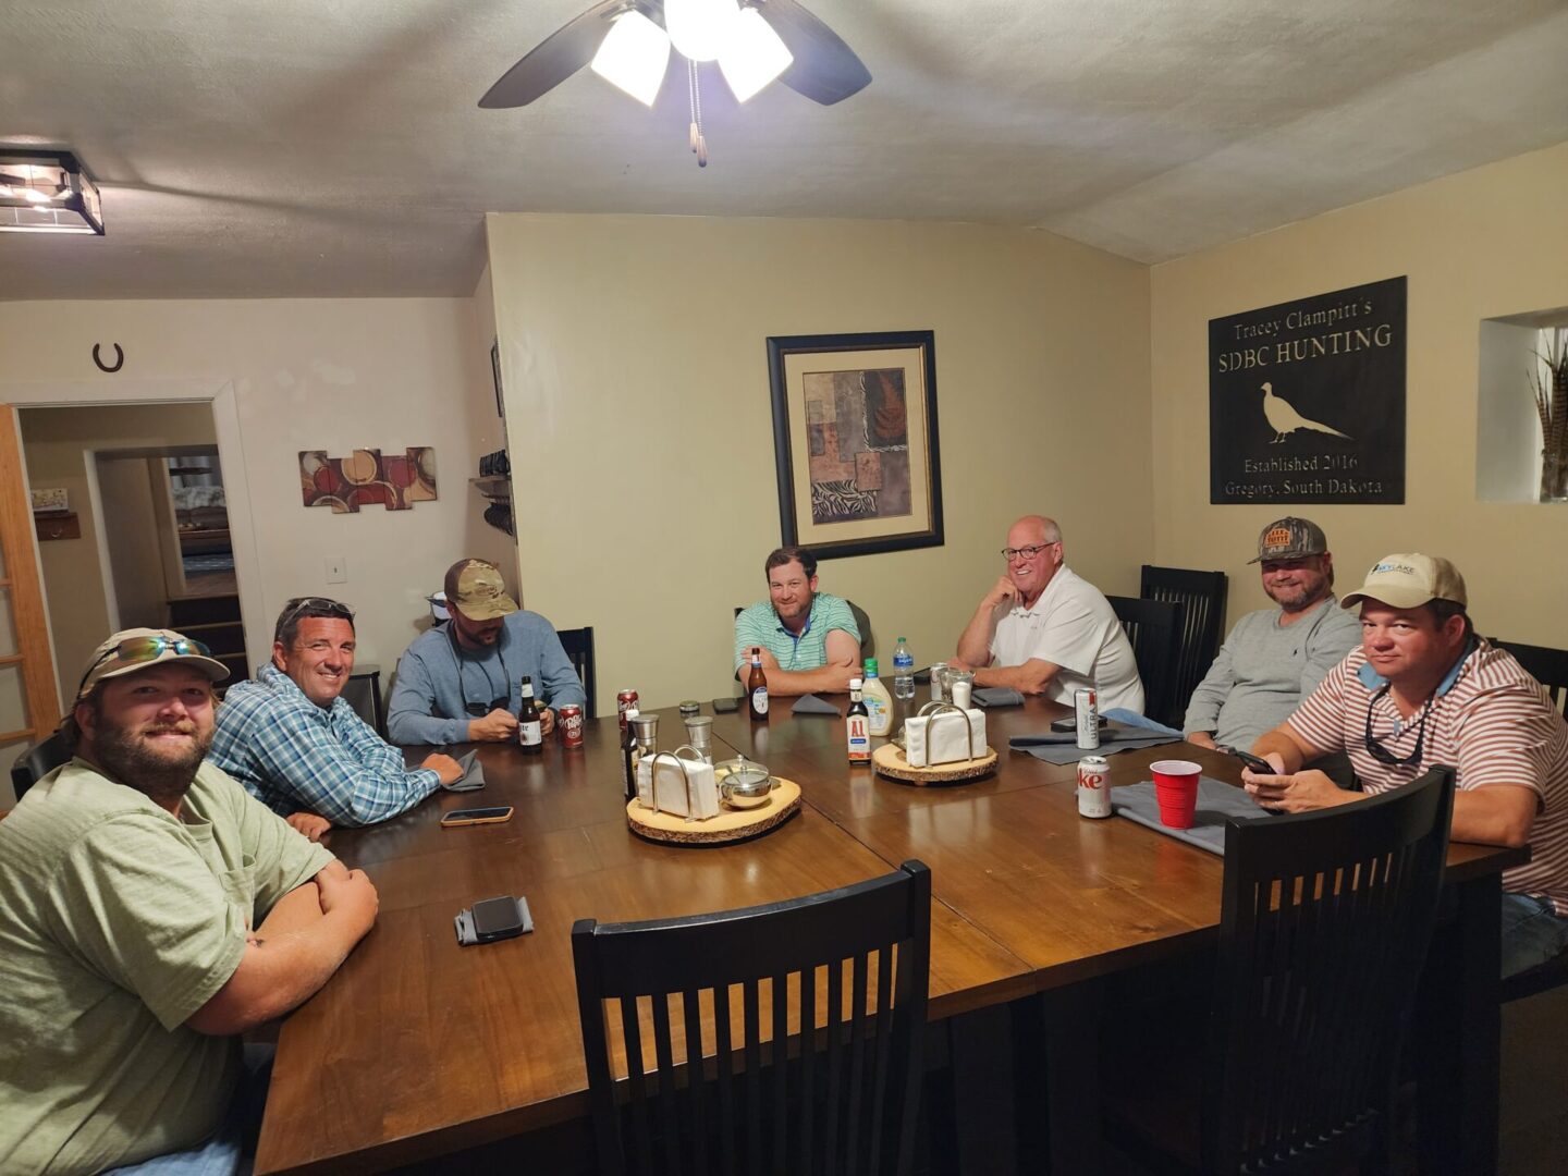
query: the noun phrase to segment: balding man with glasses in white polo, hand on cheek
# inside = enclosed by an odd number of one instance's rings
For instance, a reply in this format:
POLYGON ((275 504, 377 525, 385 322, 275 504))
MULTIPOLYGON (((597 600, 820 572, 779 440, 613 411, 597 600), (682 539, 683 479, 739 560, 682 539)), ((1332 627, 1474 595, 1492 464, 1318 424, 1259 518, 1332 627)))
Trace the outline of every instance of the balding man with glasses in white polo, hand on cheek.
POLYGON ((975 608, 958 657, 977 687, 1013 687, 1073 704, 1099 690, 1101 712, 1143 713, 1143 682, 1127 635, 1101 591, 1063 563, 1062 528, 1025 514, 1007 532, 1007 568, 975 608))

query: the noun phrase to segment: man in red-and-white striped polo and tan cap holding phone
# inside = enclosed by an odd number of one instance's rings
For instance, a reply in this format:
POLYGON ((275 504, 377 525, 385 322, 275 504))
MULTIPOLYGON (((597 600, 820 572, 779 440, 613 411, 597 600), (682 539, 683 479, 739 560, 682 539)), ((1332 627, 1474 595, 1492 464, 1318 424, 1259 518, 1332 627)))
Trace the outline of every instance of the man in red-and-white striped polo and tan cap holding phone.
POLYGON ((1530 845, 1502 875, 1502 975, 1568 949, 1568 723, 1512 654, 1475 635, 1444 558, 1388 555, 1345 596, 1361 648, 1253 745, 1279 775, 1242 773, 1267 809, 1305 812, 1458 770, 1454 839, 1530 845), (1345 751, 1364 793, 1301 770, 1345 751))

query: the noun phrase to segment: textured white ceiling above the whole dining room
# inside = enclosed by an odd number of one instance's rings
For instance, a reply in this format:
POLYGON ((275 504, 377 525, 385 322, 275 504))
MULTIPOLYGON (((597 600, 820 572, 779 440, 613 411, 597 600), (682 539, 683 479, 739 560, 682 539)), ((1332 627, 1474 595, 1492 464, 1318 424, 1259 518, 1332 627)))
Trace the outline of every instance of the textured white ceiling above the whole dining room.
POLYGON ((467 295, 486 210, 1040 226, 1179 257, 1568 140, 1565 0, 806 0, 837 107, 582 71, 480 94, 588 0, 6 0, 0 141, 108 237, 0 234, 0 298, 467 295))

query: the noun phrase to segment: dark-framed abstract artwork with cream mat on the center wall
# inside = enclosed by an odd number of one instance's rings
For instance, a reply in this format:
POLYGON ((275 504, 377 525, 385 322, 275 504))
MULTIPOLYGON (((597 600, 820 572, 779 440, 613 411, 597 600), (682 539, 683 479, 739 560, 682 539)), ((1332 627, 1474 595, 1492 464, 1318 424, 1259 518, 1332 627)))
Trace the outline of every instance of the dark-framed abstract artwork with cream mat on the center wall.
POLYGON ((936 332, 768 337, 782 546, 942 546, 936 332))

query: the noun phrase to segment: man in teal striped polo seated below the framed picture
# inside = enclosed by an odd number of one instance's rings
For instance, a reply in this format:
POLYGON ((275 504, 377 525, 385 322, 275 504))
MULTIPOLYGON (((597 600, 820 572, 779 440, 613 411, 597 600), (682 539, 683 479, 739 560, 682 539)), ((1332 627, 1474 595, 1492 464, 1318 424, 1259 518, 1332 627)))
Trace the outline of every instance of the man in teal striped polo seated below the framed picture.
POLYGON ((817 591, 817 560, 800 547, 768 555, 768 599, 735 618, 735 670, 762 651, 770 695, 842 693, 861 674, 861 627, 848 601, 817 591))

